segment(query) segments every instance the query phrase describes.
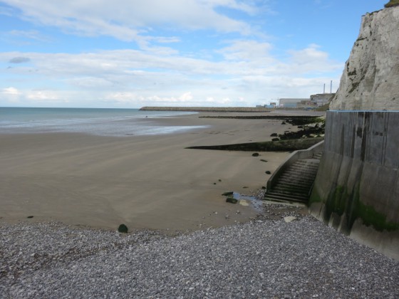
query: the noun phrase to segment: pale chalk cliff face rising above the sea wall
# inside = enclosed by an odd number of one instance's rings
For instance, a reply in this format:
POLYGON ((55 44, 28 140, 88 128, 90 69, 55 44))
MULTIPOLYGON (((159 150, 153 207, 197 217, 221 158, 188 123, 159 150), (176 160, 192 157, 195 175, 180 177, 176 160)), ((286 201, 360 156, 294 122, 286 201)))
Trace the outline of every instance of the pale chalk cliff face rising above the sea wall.
POLYGON ((330 110, 399 110, 399 6, 363 16, 330 110))

